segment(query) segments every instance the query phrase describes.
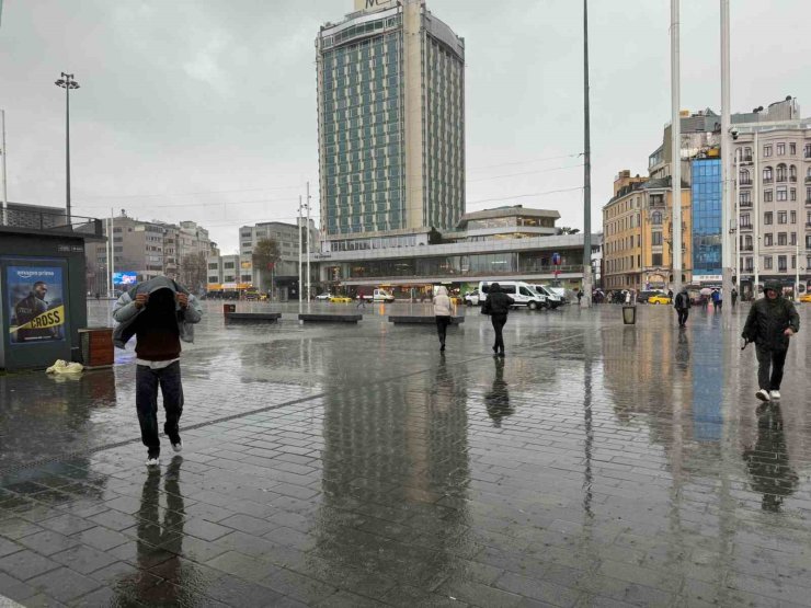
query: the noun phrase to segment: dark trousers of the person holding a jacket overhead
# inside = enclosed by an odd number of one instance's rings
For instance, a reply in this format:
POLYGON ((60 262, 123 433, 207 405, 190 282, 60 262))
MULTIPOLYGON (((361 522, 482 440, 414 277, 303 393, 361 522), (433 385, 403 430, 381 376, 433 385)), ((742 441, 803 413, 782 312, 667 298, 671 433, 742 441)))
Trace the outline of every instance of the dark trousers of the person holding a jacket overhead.
POLYGON ((158 437, 158 387, 163 394, 163 410, 167 422, 163 432, 169 440, 180 439, 180 416, 183 413, 183 383, 180 377, 180 362, 163 369, 151 369, 139 365, 135 372, 135 408, 138 410, 140 438, 147 446, 150 457, 160 455, 158 437))

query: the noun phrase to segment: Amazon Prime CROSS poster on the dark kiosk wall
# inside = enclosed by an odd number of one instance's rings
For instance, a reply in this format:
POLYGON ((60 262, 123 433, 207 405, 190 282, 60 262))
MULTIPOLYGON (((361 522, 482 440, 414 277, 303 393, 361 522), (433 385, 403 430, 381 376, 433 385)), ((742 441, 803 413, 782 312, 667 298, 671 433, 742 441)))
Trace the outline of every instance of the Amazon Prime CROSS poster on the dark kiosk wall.
POLYGON ((65 286, 59 266, 8 266, 11 344, 65 340, 65 286))

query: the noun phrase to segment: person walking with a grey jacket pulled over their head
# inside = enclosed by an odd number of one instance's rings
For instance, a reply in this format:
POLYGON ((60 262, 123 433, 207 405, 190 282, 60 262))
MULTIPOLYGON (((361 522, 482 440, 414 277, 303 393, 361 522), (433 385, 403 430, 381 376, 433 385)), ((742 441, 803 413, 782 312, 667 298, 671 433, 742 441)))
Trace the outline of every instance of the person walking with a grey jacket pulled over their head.
POLYGON ((147 448, 147 467, 160 464, 159 387, 167 416, 163 431, 175 452, 183 449, 180 342, 194 342, 194 324, 201 317, 197 299, 164 276, 135 285, 115 302, 113 319, 118 323, 113 332, 115 345, 124 348, 129 339, 136 339, 135 406, 141 441, 147 448))

